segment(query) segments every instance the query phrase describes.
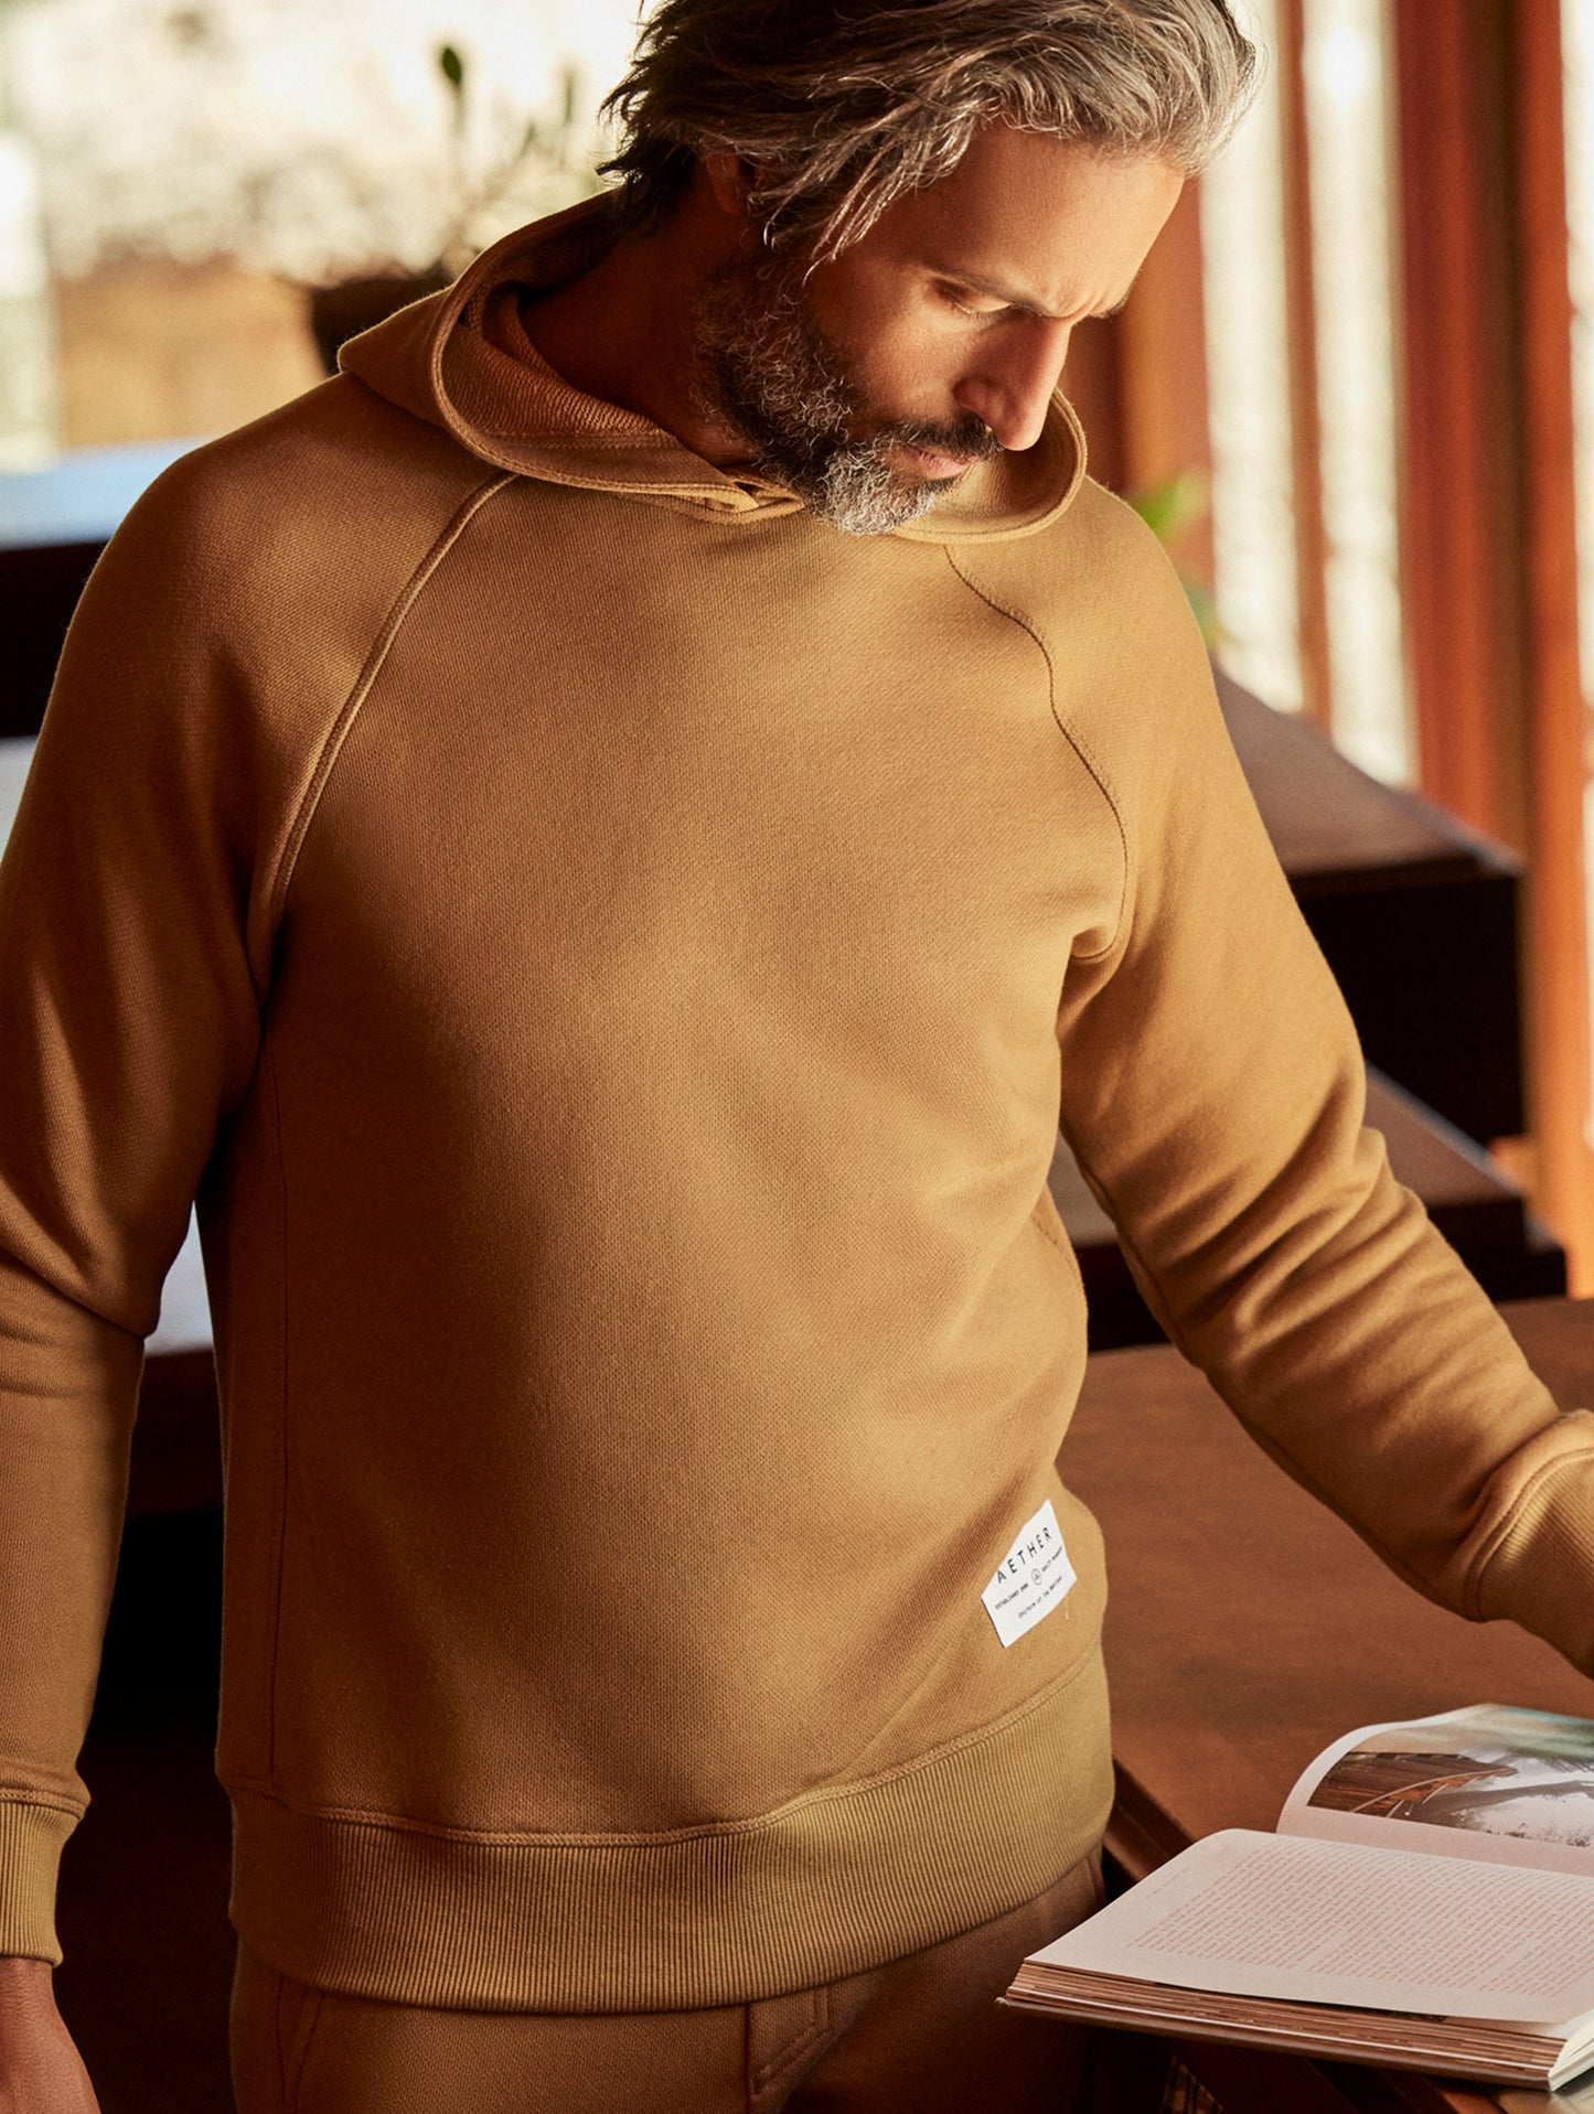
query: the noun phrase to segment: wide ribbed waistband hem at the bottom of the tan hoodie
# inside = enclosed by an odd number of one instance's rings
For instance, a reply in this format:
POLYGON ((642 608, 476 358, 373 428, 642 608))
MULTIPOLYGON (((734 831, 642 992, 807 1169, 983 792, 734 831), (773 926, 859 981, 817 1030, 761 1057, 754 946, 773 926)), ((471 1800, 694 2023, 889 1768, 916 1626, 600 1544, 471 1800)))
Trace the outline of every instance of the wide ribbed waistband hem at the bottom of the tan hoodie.
POLYGON ((693 2010, 970 1930, 1087 1856, 1112 1805, 1101 1657, 1000 1725, 761 1820, 482 1837, 233 1791, 233 1920, 319 1989, 457 2010, 693 2010))

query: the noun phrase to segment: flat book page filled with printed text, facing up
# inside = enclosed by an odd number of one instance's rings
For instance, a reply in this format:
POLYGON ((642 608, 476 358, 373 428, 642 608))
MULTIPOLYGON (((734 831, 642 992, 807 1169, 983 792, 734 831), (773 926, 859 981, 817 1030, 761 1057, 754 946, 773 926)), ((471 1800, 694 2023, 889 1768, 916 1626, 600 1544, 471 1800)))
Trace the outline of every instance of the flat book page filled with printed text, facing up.
POLYGON ((1032 1958, 1564 2038, 1594 2008, 1590 1932, 1594 1877, 1228 1829, 1032 1958))

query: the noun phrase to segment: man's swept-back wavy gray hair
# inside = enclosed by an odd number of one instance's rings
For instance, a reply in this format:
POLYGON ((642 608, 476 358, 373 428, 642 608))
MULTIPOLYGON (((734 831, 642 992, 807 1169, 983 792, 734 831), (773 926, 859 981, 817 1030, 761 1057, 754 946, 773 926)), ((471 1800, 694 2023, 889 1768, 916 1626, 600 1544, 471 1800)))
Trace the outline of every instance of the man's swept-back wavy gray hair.
POLYGON ((622 133, 603 169, 641 230, 702 154, 734 154, 763 241, 820 260, 991 123, 1192 175, 1256 72, 1226 0, 662 0, 603 106, 622 133))

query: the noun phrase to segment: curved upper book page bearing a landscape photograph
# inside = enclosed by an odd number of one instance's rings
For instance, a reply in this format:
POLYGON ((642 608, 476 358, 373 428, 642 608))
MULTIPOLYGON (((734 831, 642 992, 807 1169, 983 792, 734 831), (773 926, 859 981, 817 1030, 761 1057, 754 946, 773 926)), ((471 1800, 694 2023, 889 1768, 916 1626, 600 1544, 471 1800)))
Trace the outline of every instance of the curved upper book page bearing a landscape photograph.
POLYGON ((1471 1704, 1364 1725, 1309 1765, 1279 1833, 1594 1875, 1594 1723, 1471 1704))

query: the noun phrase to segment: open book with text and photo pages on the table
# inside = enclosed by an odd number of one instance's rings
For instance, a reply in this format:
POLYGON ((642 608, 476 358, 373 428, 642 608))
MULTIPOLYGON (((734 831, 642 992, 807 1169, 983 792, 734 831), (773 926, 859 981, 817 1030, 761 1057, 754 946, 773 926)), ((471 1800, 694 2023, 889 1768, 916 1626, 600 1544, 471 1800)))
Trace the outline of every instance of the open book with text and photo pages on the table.
POLYGON ((1594 2063, 1594 1723, 1478 1704, 1319 1755, 1275 1835, 1184 1850, 1008 2004, 1554 2087, 1594 2063))

